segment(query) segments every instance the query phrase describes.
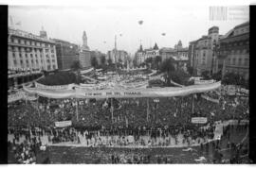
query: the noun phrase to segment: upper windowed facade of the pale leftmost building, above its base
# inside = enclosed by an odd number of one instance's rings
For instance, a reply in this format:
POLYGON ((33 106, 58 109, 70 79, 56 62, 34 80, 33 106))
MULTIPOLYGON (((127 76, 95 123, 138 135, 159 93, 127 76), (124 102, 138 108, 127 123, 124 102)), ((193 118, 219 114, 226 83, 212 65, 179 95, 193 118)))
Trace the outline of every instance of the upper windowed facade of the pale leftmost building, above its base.
POLYGON ((9 28, 8 66, 9 69, 23 70, 58 69, 55 42, 9 28))

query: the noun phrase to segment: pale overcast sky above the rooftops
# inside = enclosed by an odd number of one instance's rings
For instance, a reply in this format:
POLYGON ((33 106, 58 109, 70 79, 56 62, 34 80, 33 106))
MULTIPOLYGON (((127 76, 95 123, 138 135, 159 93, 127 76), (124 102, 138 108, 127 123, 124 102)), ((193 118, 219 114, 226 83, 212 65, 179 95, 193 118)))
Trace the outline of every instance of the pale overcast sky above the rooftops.
MULTIPOLYGON (((241 10, 239 11, 241 12, 241 10)), ((244 10, 245 12, 245 10, 244 10)), ((246 11, 247 12, 247 11, 246 11)), ((242 12, 243 14, 243 12, 242 12)), ((38 35, 41 27, 48 37, 82 44, 82 31, 88 37, 91 50, 106 52, 114 48, 115 34, 118 49, 134 55, 140 40, 144 48, 174 47, 179 40, 183 46, 208 33, 217 25, 226 34, 235 25, 248 21, 248 16, 236 20, 210 21, 207 6, 104 6, 104 7, 9 7, 15 28, 38 35), (139 25, 138 21, 143 24, 139 25), (15 23, 21 22, 21 25, 15 23), (166 33, 166 36, 162 36, 166 33), (121 34, 121 36, 120 36, 121 34), (105 42, 105 43, 104 43, 105 42)))

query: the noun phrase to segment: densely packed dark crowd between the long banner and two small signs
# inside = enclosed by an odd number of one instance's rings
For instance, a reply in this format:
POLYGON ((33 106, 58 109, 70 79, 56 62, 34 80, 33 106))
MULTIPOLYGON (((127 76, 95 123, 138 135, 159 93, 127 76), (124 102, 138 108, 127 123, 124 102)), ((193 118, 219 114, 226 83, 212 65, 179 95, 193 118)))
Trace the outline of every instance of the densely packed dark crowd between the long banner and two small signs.
POLYGON ((190 124, 192 117, 207 117, 210 123, 248 120, 247 98, 222 95, 219 100, 211 103, 200 94, 98 100, 39 97, 9 103, 9 126, 53 127, 57 121, 71 120, 82 127, 178 127, 190 124))

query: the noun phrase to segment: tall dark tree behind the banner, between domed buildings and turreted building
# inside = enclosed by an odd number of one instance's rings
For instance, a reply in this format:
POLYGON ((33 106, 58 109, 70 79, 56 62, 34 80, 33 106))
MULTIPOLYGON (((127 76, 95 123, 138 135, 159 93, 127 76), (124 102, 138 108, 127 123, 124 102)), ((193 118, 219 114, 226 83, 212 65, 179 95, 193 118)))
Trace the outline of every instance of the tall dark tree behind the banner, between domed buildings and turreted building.
POLYGON ((170 86, 171 85, 171 76, 172 72, 174 72, 174 59, 166 59, 166 61, 162 62, 160 66, 160 72, 164 73, 165 83, 170 86))

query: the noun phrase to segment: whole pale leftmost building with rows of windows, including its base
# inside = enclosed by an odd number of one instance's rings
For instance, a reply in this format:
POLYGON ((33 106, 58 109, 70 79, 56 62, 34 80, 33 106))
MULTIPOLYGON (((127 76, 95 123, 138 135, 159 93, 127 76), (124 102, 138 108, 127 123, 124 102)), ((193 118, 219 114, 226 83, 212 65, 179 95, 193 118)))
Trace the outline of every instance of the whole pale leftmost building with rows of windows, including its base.
POLYGON ((8 44, 9 87, 41 76, 41 70, 58 69, 55 42, 47 39, 45 30, 37 36, 9 27, 8 44))

